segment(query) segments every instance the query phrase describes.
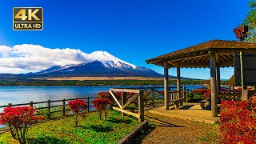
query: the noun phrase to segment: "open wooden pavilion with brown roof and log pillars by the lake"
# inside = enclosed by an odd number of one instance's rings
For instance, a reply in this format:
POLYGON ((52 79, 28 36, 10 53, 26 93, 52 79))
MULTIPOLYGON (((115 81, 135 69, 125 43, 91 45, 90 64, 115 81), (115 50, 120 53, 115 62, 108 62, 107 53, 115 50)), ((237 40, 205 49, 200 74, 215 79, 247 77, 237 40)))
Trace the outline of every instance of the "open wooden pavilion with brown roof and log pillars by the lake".
POLYGON ((157 66, 164 67, 165 109, 170 106, 168 70, 177 68, 177 90, 181 91, 180 68, 210 68, 211 111, 217 116, 217 96, 220 93, 220 67, 234 66, 234 54, 256 53, 256 43, 212 40, 186 49, 164 54, 146 60, 157 66))

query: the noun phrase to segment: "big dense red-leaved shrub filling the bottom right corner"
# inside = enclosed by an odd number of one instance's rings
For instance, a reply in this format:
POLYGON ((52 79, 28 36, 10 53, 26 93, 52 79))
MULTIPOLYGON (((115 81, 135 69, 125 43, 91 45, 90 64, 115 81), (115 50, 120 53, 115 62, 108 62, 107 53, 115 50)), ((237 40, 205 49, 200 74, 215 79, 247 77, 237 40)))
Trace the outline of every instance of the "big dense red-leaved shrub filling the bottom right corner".
POLYGON ((247 101, 222 101, 221 143, 256 143, 256 118, 247 101))

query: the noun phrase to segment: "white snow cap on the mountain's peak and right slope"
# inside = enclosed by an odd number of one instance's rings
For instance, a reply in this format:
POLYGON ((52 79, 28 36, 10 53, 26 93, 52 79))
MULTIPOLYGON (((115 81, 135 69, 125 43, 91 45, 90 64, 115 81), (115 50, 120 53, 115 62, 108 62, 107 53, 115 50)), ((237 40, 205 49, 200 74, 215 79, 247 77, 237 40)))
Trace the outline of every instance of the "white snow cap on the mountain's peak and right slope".
POLYGON ((106 67, 132 67, 135 69, 137 66, 132 65, 128 62, 122 61, 119 58, 114 57, 106 51, 94 51, 88 55, 92 61, 102 62, 106 67))

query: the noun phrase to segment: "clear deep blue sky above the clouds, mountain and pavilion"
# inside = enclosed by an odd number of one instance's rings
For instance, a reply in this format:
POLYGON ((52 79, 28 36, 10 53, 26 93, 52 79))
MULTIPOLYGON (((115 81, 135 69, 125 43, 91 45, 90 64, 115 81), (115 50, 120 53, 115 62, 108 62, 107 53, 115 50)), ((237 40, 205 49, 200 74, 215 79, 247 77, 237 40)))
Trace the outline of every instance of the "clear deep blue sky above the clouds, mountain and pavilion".
MULTIPOLYGON (((0 45, 104 50, 136 66, 163 72, 145 60, 212 39, 235 40, 234 27, 246 17, 241 0, 2 0, 0 45), (15 6, 42 6, 42 31, 14 31, 15 6)), ((175 75, 171 69, 170 74, 175 75)), ((230 78, 233 68, 222 69, 230 78)), ((182 69, 182 77, 209 78, 207 69, 182 69)))

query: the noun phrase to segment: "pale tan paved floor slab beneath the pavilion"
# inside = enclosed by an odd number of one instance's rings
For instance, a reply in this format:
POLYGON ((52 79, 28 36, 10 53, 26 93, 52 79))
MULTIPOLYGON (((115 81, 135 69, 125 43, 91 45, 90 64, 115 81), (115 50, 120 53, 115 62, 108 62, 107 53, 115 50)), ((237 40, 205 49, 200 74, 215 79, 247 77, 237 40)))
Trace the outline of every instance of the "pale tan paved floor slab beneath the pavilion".
POLYGON ((165 110, 164 106, 148 110, 151 114, 188 119, 197 122, 216 123, 219 117, 212 117, 210 110, 202 110, 199 103, 184 103, 179 109, 165 110))

